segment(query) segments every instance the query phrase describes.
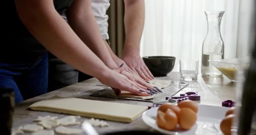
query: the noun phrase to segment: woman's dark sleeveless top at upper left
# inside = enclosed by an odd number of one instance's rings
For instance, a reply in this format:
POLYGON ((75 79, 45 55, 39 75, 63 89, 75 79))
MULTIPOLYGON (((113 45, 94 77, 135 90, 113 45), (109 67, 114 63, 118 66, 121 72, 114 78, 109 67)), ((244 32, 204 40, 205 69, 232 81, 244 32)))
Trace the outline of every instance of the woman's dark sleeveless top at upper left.
MULTIPOLYGON (((62 15, 72 3, 72 0, 53 0, 56 11, 62 15)), ((0 43, 0 59, 3 56, 26 53, 42 53, 46 49, 41 45, 33 35, 26 29, 21 22, 14 0, 4 0, 5 13, 1 13, 1 35, 3 41, 0 43)))

